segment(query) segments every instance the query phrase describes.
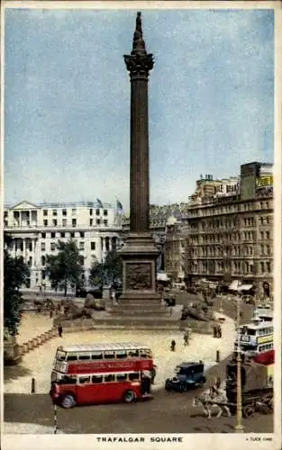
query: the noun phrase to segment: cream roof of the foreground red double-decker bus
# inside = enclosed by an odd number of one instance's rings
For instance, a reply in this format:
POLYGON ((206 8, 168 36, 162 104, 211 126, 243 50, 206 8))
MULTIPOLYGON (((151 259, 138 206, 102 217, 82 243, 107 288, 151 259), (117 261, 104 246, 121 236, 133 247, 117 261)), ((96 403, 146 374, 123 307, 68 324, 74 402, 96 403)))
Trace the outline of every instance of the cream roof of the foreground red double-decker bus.
POLYGON ((76 352, 102 352, 102 351, 114 351, 114 350, 141 350, 148 349, 150 347, 144 346, 140 343, 134 342, 116 342, 116 343, 105 343, 105 344, 90 344, 90 345, 77 345, 77 346, 59 346, 57 350, 66 353, 76 353, 76 352))

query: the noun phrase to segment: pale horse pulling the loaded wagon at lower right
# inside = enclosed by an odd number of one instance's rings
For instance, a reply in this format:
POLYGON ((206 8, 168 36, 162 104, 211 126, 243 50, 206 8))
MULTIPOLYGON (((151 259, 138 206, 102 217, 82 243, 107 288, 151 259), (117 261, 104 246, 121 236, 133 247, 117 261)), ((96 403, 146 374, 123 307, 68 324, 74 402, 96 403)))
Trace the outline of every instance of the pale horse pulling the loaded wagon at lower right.
POLYGON ((215 392, 213 388, 208 391, 202 392, 201 395, 195 397, 193 400, 193 406, 202 406, 203 411, 207 415, 208 419, 212 417, 212 408, 216 408, 218 413, 216 418, 220 418, 223 414, 223 410, 227 413, 227 416, 231 416, 229 407, 227 406, 226 392, 222 389, 222 386, 215 392))

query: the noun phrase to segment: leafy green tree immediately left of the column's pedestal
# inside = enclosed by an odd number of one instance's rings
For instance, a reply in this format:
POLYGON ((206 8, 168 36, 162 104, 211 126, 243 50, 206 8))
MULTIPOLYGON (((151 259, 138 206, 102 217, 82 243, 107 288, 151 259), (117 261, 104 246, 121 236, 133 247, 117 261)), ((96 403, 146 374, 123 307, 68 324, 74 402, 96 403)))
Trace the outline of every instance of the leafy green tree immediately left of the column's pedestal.
POLYGON ((95 258, 89 273, 89 282, 92 285, 114 284, 123 276, 123 260, 119 253, 111 250, 107 253, 105 261, 99 263, 95 258))

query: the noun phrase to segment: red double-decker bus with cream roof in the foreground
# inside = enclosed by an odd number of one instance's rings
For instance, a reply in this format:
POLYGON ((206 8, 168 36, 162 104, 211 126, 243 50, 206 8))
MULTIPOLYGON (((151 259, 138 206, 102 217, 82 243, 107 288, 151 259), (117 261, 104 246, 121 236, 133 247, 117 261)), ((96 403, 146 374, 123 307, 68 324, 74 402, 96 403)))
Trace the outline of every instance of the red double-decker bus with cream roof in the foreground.
POLYGON ((148 380, 150 383, 153 370, 150 348, 140 344, 58 347, 50 396, 63 408, 86 403, 131 403, 150 397, 150 389, 145 392, 144 385, 148 386, 148 380))

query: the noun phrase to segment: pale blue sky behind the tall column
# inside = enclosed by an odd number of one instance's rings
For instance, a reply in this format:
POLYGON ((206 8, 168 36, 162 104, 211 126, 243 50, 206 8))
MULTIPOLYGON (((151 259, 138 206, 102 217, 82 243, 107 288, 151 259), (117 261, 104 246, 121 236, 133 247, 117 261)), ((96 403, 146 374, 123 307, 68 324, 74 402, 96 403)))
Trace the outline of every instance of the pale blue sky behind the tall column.
MULTIPOLYGON (((5 9, 5 202, 130 195, 135 10, 5 9)), ((273 162, 271 10, 144 10, 150 202, 273 162)))

